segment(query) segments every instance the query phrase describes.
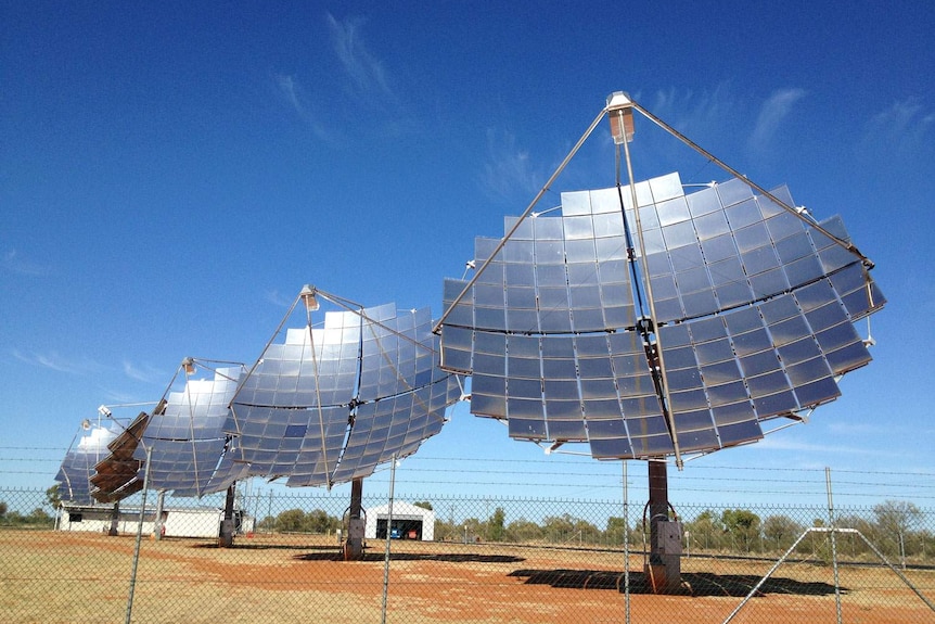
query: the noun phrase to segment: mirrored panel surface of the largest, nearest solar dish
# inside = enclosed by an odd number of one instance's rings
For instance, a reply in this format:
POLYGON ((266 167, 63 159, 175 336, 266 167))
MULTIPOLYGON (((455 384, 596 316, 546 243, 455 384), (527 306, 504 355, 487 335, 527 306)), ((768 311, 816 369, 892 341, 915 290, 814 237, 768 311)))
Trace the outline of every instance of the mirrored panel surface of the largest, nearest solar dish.
POLYGON ((440 324, 473 413, 599 459, 707 453, 833 400, 870 361, 854 323, 884 298, 838 218, 816 228, 737 178, 686 194, 670 174, 635 195, 645 249, 629 186, 563 193, 561 216, 476 239, 484 270, 446 280, 440 324))

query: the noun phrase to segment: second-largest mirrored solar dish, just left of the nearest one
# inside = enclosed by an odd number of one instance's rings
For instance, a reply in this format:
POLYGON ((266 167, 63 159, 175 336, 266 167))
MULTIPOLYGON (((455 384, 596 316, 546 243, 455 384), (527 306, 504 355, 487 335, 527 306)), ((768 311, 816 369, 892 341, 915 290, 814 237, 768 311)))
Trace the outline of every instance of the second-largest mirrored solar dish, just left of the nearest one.
POLYGON ((249 474, 329 487, 366 477, 415 453, 461 397, 437 343, 427 308, 362 307, 306 286, 236 391, 225 431, 249 474), (319 298, 335 309, 313 327, 319 298), (305 327, 282 331, 299 302, 305 327))

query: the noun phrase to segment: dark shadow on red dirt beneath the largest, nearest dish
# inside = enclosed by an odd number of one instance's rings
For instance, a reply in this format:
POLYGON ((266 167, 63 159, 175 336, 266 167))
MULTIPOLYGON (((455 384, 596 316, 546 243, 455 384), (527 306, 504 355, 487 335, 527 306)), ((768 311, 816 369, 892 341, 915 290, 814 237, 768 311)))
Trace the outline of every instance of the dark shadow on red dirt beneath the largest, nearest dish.
MULTIPOLYGON (((527 584, 551 585, 574 589, 625 590, 623 572, 606 570, 515 570, 510 576, 525 577, 527 584)), ((728 596, 742 598, 759 583, 752 574, 710 574, 690 572, 682 574, 684 596, 728 596)), ((841 588, 842 594, 846 593, 841 588)), ((630 572, 630 594, 653 594, 649 577, 642 572, 630 572)), ((770 577, 757 590, 757 596, 786 594, 794 596, 828 596, 834 586, 828 583, 802 582, 793 578, 770 577)))

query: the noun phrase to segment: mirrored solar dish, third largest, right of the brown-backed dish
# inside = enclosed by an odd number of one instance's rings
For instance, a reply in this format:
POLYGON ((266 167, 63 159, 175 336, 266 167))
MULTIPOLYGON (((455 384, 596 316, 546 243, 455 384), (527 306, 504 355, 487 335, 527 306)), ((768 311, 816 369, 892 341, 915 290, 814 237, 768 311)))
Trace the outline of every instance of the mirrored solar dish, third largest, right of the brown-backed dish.
POLYGON ((172 390, 180 379, 177 372, 162 409, 149 419, 133 456, 144 461, 150 449, 150 485, 154 489, 202 497, 227 489, 246 473, 245 464, 232 460, 232 440, 223 432, 244 367, 212 366, 210 360, 185 358, 179 367, 184 386, 172 390), (210 371, 210 379, 191 378, 195 365, 210 371))

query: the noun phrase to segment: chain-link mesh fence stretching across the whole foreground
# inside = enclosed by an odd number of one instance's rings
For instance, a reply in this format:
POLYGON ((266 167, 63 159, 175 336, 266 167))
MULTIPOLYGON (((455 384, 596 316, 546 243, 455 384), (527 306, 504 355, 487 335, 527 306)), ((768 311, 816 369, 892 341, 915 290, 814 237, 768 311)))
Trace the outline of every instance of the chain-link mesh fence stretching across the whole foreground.
MULTIPOLYGON (((675 589, 645 501, 139 495, 80 507, 0 489, 5 622, 935 622, 935 513, 905 500, 680 506, 675 589), (832 530, 833 527, 833 530, 832 530)), ((669 571, 670 572, 670 571, 669 571)))

